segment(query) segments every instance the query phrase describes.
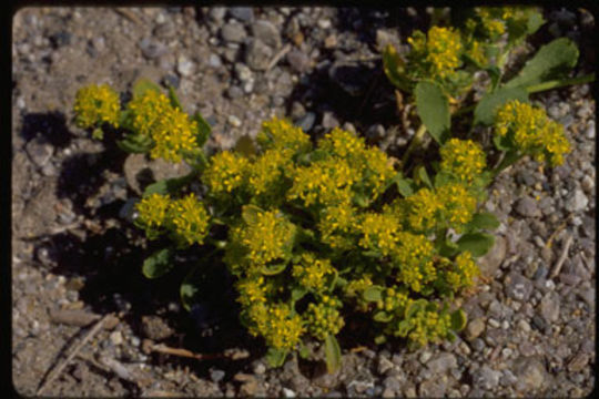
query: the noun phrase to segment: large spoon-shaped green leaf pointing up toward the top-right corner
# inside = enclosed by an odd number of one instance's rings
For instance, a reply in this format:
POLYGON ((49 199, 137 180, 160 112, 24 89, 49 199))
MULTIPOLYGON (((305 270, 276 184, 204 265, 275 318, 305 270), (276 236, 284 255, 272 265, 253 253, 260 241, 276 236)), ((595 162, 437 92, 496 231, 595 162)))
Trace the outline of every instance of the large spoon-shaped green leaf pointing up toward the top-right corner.
POLYGON ((567 38, 559 38, 540 48, 506 88, 526 88, 564 76, 578 62, 578 48, 567 38))

